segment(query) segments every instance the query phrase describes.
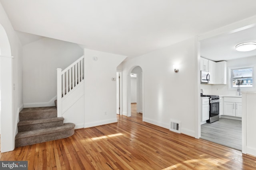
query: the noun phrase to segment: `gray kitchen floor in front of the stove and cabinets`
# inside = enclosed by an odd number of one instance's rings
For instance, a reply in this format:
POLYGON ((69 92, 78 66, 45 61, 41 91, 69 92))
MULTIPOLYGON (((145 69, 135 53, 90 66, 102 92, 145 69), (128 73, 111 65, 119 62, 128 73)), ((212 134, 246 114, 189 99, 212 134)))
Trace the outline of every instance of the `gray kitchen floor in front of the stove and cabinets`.
POLYGON ((242 150, 242 121, 220 118, 201 125, 201 139, 242 150))

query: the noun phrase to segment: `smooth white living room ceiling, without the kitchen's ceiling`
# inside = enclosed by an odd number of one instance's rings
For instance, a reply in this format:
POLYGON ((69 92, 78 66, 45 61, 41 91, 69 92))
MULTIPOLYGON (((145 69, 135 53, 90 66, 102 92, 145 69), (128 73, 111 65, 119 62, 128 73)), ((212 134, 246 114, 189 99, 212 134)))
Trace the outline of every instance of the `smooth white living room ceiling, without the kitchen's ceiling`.
MULTIPOLYGON (((255 0, 0 2, 16 31, 38 35, 30 37, 32 41, 50 37, 128 57, 149 53, 256 15, 255 0)), ((19 36, 24 38, 25 35, 19 36)), ((206 40, 202 45, 204 43, 211 44, 206 40)), ((202 54, 208 55, 203 50, 202 54)))

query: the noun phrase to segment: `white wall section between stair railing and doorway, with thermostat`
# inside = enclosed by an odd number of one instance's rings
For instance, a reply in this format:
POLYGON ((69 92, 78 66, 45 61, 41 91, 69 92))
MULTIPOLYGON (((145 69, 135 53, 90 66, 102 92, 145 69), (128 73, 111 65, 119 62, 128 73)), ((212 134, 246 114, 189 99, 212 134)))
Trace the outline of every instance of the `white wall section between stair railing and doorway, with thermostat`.
POLYGON ((92 127, 117 122, 116 67, 126 56, 84 49, 85 123, 92 127), (98 57, 97 61, 93 57, 98 57))

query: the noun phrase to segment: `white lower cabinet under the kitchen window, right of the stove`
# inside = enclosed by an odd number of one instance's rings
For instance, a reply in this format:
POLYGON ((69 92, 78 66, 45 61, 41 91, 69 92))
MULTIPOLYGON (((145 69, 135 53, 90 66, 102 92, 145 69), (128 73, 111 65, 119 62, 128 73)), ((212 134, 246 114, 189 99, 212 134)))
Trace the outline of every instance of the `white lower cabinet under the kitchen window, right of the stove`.
POLYGON ((223 115, 242 117, 242 101, 241 98, 224 98, 223 115))

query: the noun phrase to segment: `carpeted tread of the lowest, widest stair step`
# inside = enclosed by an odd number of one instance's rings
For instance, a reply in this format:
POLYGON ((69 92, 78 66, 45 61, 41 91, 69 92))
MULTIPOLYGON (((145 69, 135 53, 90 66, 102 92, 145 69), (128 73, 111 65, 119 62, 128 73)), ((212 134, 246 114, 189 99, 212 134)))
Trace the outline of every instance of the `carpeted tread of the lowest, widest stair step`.
MULTIPOLYGON (((76 125, 74 123, 64 123, 63 126, 59 126, 59 127, 51 127, 51 128, 46 128, 46 129, 38 129, 38 130, 34 130, 34 131, 26 131, 26 132, 19 132, 15 139, 22 139, 22 138, 27 138, 27 137, 35 137, 35 136, 39 136, 39 135, 46 135, 46 134, 50 134, 50 133, 57 133, 57 132, 61 132, 61 131, 67 131, 70 129, 74 129, 76 125)), ((55 139, 52 139, 55 140, 55 139)))

